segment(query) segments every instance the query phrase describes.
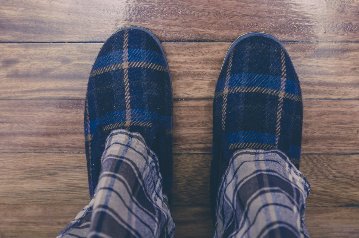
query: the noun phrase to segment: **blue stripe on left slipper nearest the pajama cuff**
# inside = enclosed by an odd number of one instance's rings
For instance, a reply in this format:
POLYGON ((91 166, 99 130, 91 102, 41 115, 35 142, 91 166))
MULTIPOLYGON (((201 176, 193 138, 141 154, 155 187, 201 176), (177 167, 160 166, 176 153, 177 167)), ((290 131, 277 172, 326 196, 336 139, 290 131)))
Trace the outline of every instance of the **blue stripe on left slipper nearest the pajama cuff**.
MULTIPOLYGON (((147 123, 155 123, 159 122, 163 125, 164 129, 171 129, 171 116, 161 116, 153 111, 147 111, 143 109, 131 109, 131 121, 136 122, 147 122, 147 123)), ((106 125, 110 125, 113 123, 126 122, 126 111, 115 111, 113 113, 106 114, 89 122, 90 124, 90 132, 94 133, 96 128, 101 125, 102 127, 106 125)), ((85 136, 89 134, 85 127, 85 136)))

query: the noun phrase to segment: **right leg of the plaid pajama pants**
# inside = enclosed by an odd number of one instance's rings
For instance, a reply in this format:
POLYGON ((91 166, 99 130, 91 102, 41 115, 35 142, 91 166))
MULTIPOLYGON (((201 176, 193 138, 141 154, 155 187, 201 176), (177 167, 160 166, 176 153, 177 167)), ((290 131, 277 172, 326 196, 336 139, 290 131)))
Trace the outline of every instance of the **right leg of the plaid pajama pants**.
POLYGON ((236 151, 218 190, 214 238, 309 238, 309 182, 280 150, 236 151))

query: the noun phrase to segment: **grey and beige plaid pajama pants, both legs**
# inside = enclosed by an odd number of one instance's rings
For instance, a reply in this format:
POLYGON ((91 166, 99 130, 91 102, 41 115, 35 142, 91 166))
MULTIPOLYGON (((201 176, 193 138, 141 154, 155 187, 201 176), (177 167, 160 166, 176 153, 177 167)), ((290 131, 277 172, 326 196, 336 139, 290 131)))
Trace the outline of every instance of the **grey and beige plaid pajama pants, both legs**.
MULTIPOLYGON (((305 225, 310 186, 279 150, 236 151, 222 177, 214 237, 309 237, 305 225)), ((90 203, 57 235, 173 237, 157 155, 139 133, 113 130, 90 203)))

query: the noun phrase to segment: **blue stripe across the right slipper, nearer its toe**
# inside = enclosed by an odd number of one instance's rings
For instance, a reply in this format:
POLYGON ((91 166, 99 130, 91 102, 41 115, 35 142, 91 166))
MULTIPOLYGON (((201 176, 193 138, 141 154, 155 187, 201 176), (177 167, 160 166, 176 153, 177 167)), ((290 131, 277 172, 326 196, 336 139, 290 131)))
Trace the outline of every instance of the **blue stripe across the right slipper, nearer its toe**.
MULTIPOLYGON (((221 79, 222 82, 225 81, 225 78, 221 79)), ((238 73, 231 75, 229 78, 229 88, 233 87, 263 87, 272 90, 280 90, 280 81, 278 77, 270 75, 262 75, 256 73, 238 73)), ((216 91, 222 91, 224 89, 224 84, 217 85, 216 91)), ((300 95, 300 86, 299 82, 292 80, 286 80, 285 92, 294 95, 300 95)))

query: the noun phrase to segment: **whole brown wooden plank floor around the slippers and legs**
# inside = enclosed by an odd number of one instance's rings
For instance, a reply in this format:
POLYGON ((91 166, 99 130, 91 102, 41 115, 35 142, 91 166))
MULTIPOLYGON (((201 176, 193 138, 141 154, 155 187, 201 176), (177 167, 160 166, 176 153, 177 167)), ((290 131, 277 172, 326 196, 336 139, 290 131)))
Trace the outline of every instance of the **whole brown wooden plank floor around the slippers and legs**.
POLYGON ((316 237, 359 237, 358 0, 0 1, 0 237, 55 237, 89 201, 87 81, 103 42, 139 25, 173 80, 175 237, 211 237, 212 104, 239 35, 274 35, 303 92, 300 170, 316 237))

